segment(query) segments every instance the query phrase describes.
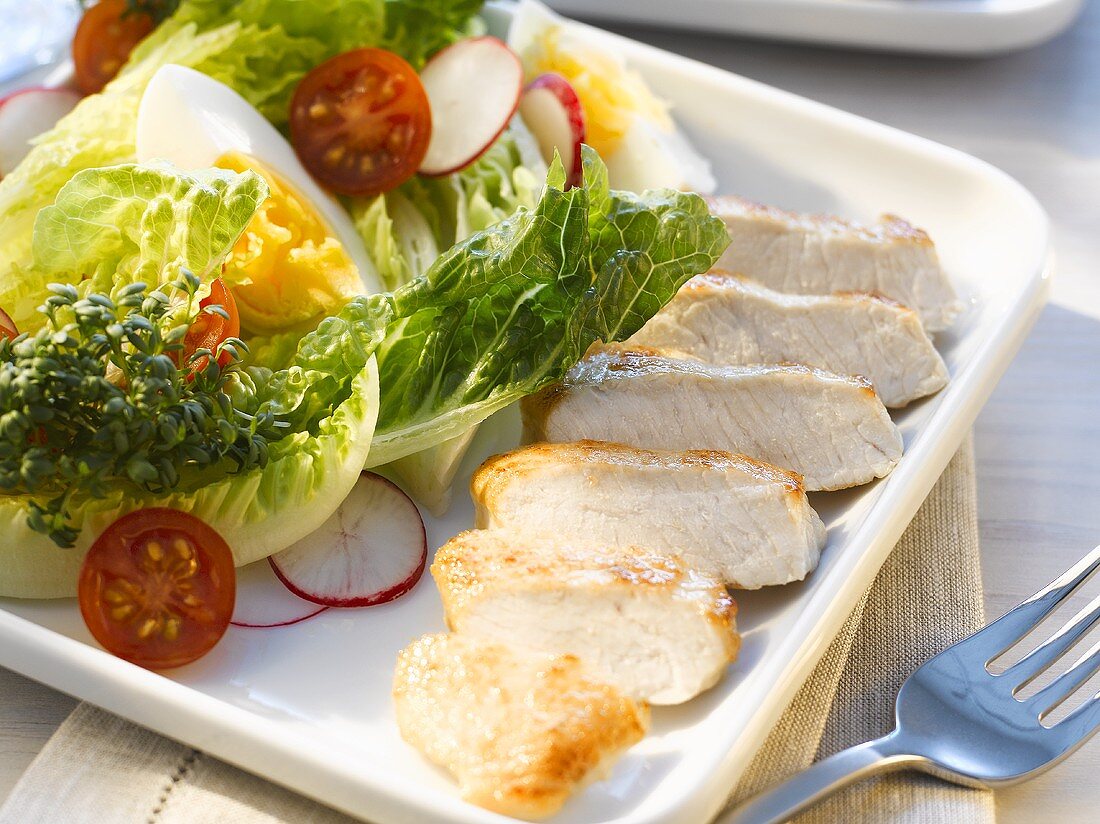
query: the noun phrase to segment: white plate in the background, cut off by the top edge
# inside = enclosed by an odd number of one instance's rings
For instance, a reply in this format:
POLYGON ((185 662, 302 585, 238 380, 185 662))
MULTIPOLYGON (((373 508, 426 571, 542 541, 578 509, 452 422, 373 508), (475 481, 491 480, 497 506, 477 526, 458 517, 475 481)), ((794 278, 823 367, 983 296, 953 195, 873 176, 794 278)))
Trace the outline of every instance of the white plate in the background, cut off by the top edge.
POLYGON ((559 11, 834 46, 980 55, 1064 31, 1085 0, 548 0, 559 11))

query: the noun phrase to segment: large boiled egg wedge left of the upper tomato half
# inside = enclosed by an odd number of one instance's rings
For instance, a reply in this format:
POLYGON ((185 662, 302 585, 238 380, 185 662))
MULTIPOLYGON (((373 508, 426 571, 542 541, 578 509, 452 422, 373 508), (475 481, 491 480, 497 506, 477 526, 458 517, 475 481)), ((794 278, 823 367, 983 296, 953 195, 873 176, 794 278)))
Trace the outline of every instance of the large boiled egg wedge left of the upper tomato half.
POLYGON ((139 162, 252 169, 271 195, 226 261, 245 329, 307 328, 355 295, 382 292, 363 241, 275 128, 224 84, 183 66, 153 76, 138 111, 139 162))

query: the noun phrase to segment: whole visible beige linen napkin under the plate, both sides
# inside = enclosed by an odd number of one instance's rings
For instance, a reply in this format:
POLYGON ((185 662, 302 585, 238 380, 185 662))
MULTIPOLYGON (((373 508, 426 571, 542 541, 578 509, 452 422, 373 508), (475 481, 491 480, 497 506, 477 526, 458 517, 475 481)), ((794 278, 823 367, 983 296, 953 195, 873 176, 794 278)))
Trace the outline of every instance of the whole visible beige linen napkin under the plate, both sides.
MULTIPOLYGON (((982 622, 974 451, 952 461, 734 798, 877 737, 925 658, 982 622)), ((369 814, 370 811, 364 811, 369 814)), ((799 820, 990 824, 991 793, 895 773, 799 820)), ((81 704, 0 809, 0 824, 350 824, 288 790, 81 704)))

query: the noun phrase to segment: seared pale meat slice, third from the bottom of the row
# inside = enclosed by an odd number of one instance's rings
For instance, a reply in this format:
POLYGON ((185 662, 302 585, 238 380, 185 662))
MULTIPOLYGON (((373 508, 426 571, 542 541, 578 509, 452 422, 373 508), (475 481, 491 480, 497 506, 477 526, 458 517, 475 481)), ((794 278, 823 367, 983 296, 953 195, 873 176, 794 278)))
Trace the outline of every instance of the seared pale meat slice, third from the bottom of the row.
POLYGON ((470 488, 481 528, 646 547, 746 590, 801 581, 825 545, 801 477, 729 452, 537 443, 470 488))

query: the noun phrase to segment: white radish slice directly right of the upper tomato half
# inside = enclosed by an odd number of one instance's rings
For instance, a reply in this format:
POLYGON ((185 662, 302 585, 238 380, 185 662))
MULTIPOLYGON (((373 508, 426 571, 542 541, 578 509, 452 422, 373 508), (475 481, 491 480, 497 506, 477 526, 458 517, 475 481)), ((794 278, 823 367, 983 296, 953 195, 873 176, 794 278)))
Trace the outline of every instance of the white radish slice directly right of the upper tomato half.
POLYGON ((431 106, 431 142, 420 174, 448 175, 501 136, 519 106, 524 67, 496 37, 472 37, 428 61, 420 81, 431 106))

